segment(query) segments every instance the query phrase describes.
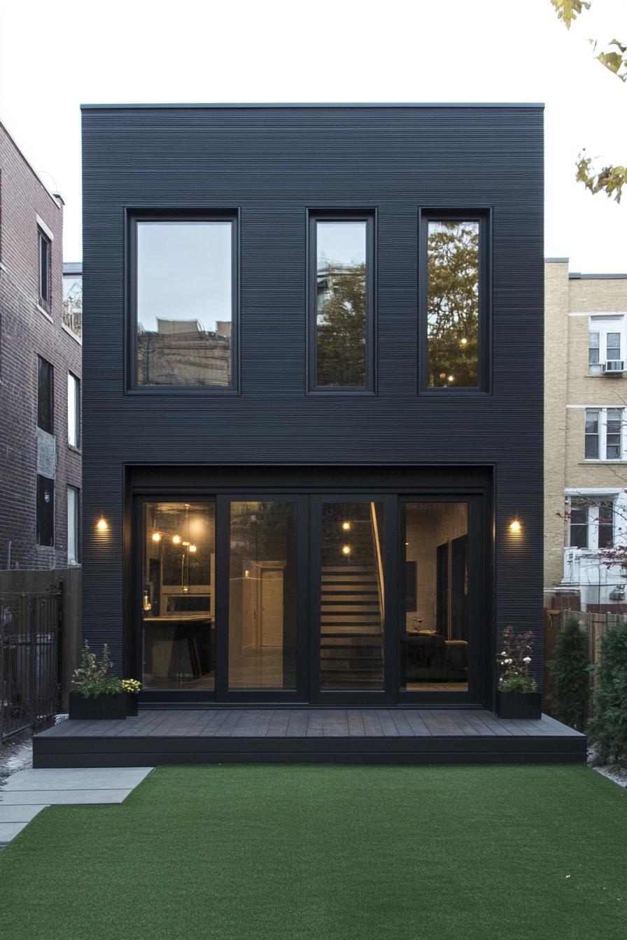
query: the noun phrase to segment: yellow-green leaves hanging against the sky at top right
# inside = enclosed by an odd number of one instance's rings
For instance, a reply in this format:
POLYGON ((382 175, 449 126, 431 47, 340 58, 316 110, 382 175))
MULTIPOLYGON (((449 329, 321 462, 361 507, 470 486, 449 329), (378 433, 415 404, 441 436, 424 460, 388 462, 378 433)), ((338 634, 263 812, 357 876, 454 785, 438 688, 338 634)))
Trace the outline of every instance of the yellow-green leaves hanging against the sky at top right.
MULTIPOLYGON (((551 0, 551 3, 556 8, 557 19, 561 20, 567 29, 571 28, 574 20, 584 9, 589 9, 591 6, 588 0, 551 0)), ((597 40, 591 39, 590 41, 596 51, 597 40)), ((607 48, 602 50, 596 58, 605 69, 616 75, 621 82, 627 82, 626 53, 627 45, 620 42, 619 39, 612 39, 607 43, 607 48)), ((627 166, 609 164, 601 169, 595 169, 592 158, 588 157, 585 149, 580 152, 576 166, 577 174, 575 179, 577 182, 582 182, 590 193, 593 195, 595 193, 604 193, 605 196, 620 202, 622 187, 627 185, 627 166)))

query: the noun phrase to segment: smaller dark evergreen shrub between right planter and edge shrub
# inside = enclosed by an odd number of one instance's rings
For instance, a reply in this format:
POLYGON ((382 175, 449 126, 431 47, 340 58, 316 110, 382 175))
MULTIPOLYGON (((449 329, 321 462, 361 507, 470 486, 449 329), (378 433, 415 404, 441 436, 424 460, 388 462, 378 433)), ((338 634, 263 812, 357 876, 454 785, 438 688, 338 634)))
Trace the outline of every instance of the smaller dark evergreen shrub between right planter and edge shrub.
POLYGON ((565 725, 583 731, 588 714, 590 666, 588 636, 577 619, 568 619, 557 634, 551 666, 551 713, 565 725))

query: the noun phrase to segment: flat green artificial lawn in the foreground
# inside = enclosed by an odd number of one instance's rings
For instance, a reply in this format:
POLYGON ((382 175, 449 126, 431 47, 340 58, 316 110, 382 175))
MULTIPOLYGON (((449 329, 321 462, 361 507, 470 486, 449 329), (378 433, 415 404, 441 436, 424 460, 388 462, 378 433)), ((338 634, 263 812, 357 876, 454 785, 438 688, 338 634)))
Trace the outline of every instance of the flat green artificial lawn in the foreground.
POLYGON ((627 935, 627 792, 583 766, 158 768, 0 853, 10 940, 627 935))

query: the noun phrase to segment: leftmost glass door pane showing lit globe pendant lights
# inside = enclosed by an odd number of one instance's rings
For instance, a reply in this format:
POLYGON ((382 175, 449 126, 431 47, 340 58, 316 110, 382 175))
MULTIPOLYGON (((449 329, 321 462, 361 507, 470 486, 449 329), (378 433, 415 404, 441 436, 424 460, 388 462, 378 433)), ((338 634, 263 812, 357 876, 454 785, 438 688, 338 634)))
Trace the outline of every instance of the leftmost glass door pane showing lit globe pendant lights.
POLYGON ((143 686, 213 689, 215 504, 144 505, 143 686))

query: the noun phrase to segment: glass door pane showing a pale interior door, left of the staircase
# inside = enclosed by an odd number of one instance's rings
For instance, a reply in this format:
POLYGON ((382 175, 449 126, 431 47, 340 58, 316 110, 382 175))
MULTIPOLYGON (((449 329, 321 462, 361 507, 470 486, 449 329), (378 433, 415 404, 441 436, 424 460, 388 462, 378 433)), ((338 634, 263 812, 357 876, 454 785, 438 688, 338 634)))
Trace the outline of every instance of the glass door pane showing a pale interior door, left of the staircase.
POLYGON ((296 688, 296 502, 230 503, 228 688, 296 688))

